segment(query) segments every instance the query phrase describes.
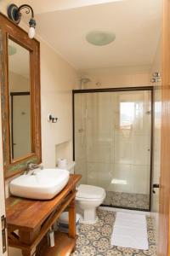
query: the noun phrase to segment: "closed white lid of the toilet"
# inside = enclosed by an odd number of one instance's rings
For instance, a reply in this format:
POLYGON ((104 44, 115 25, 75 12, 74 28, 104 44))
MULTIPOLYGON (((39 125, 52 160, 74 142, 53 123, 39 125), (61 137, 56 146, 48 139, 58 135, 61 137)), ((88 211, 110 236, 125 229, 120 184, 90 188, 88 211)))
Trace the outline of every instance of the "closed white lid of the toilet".
POLYGON ((100 199, 105 195, 105 189, 91 186, 91 185, 80 185, 77 191, 77 198, 86 199, 100 199))

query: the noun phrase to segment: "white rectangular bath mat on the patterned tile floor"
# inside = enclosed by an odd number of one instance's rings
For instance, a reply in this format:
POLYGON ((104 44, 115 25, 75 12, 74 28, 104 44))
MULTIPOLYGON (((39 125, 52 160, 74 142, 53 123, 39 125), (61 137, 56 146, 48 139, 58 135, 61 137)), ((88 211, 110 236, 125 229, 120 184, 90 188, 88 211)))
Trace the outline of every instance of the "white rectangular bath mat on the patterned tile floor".
POLYGON ((117 212, 111 245, 148 250, 147 223, 143 214, 117 212))

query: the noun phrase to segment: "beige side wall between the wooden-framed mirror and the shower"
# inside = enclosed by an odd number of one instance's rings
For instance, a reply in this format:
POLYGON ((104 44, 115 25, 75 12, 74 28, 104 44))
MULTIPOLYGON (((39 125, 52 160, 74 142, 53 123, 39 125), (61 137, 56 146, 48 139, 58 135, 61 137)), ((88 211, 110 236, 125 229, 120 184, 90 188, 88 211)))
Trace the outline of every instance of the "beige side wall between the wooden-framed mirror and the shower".
MULTIPOLYGON (((72 93, 76 88, 77 73, 48 45, 41 44, 41 91, 42 91, 42 163, 54 167, 58 155, 56 145, 72 141, 72 93), (48 123, 48 113, 59 118, 57 124, 48 123)), ((63 157, 72 157, 72 149, 63 157)))

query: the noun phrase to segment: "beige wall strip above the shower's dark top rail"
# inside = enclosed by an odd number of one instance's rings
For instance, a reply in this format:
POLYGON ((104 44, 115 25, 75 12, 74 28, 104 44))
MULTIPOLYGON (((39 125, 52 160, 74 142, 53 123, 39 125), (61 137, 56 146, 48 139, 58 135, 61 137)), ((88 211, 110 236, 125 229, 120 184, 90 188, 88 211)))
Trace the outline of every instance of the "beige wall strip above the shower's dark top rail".
POLYGON ((81 78, 91 79, 91 82, 86 84, 84 88, 150 85, 150 66, 82 70, 79 72, 79 79, 81 78))

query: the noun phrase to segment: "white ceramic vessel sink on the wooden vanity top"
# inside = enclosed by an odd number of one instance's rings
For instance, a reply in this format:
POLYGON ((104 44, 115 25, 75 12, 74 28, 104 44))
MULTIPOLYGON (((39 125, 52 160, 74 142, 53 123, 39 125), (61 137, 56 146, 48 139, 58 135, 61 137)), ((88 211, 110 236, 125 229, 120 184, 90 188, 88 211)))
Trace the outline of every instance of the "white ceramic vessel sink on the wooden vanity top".
POLYGON ((31 199, 47 200, 65 188, 69 172, 61 169, 37 169, 33 175, 23 174, 9 184, 11 194, 31 199))

